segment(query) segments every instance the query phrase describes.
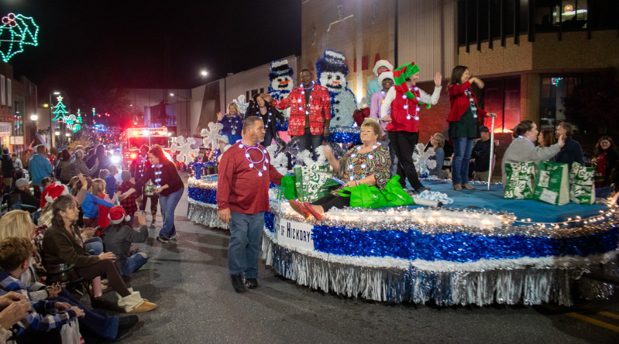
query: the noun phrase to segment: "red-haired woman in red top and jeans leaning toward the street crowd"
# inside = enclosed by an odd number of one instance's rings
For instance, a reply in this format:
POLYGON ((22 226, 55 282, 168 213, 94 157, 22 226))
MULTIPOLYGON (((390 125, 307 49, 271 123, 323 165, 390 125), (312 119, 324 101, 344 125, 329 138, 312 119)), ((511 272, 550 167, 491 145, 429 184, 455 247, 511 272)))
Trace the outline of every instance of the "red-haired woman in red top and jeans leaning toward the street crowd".
POLYGON ((155 193, 159 194, 161 213, 164 217, 164 225, 159 232, 157 240, 166 243, 173 237, 176 237, 174 211, 180 201, 180 197, 183 195, 183 181, 180 175, 178 175, 175 164, 166 158, 159 144, 153 144, 148 156, 151 166, 144 172, 144 177, 137 180, 131 189, 120 195, 118 199, 124 200, 136 190, 141 190, 142 186, 151 180, 155 184, 155 188, 157 188, 155 193))

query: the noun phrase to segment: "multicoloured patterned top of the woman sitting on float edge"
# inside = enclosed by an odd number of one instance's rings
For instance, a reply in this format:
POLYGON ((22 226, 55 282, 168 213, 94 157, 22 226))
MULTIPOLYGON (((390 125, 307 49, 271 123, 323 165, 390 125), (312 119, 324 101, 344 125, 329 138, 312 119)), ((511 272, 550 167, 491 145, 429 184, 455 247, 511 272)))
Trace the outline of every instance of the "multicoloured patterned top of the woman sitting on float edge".
MULTIPOLYGON (((389 182, 391 178, 391 172, 389 166, 391 166, 391 158, 389 157, 389 151, 376 144, 376 147, 368 153, 358 153, 362 146, 353 147, 340 159, 340 173, 338 177, 343 182, 349 182, 350 180, 361 180, 368 175, 374 175, 376 179, 376 187, 378 189, 384 189, 385 184, 389 182)), ((345 186, 341 186, 332 193, 338 195, 341 189, 345 186)))

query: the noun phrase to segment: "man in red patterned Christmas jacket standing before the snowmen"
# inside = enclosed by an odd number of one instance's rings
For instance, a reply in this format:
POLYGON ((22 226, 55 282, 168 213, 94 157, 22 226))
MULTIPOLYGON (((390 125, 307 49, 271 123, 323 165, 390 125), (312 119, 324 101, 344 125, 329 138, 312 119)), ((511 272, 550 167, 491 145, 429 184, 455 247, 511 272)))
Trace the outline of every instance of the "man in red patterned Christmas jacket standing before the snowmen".
POLYGON ((323 144, 323 136, 329 136, 331 122, 331 96, 327 87, 314 82, 310 69, 301 71, 302 85, 292 89, 290 94, 281 100, 273 100, 268 94, 260 96, 273 103, 279 110, 290 107, 288 120, 288 135, 301 136, 298 140, 298 151, 310 149, 315 154, 316 148, 323 144))

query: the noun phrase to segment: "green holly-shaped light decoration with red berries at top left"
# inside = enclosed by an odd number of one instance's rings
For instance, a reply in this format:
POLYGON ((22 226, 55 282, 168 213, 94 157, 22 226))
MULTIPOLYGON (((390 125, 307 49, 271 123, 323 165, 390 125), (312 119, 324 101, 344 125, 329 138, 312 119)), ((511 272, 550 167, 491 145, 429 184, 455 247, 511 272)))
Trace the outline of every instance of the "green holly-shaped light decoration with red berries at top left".
POLYGON ((0 25, 0 56, 2 61, 8 62, 14 54, 23 52, 24 45, 39 45, 36 36, 39 35, 39 26, 32 17, 9 13, 1 20, 0 25))

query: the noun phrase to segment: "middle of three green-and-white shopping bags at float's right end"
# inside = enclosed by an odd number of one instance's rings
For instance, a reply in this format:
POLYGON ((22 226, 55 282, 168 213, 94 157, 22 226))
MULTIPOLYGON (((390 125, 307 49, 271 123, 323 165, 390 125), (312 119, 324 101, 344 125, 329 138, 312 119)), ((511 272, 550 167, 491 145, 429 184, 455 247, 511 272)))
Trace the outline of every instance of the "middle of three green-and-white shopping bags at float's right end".
POLYGON ((558 162, 542 161, 537 169, 533 199, 563 206, 569 203, 569 167, 558 162))

